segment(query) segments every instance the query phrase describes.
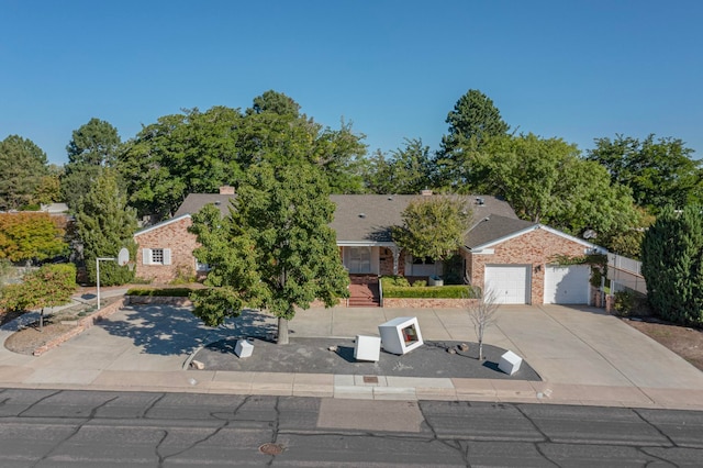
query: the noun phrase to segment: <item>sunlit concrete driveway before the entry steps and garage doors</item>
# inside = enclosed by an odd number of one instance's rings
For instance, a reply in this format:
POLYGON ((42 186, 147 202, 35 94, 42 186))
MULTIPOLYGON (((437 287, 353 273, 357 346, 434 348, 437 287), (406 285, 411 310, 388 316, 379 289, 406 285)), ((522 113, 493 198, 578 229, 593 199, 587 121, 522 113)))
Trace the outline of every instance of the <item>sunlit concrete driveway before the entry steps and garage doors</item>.
MULTIPOLYGON (((291 330, 306 337, 378 335, 378 324, 405 315, 417 316, 425 339, 476 341, 457 309, 313 309, 298 312, 291 330)), ((515 352, 548 382, 703 389, 703 372, 601 309, 503 305, 484 341, 515 352)))

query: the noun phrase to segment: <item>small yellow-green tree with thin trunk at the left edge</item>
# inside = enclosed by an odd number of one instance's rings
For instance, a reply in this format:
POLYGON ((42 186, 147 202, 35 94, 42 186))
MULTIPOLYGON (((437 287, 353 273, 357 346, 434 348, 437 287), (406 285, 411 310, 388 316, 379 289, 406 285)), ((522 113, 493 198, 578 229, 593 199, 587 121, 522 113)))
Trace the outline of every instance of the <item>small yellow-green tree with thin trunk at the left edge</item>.
POLYGON ((44 308, 70 302, 76 291, 76 267, 72 264, 44 265, 24 276, 19 285, 2 290, 0 307, 10 311, 42 309, 40 330, 44 326, 44 308))

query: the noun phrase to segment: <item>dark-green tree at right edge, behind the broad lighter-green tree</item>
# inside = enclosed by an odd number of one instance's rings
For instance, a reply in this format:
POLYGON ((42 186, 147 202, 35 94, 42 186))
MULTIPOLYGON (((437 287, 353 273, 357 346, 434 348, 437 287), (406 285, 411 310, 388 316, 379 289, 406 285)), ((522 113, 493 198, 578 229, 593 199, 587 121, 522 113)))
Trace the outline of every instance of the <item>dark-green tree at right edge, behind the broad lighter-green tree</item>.
POLYGON ((692 156, 681 140, 651 134, 641 141, 596 138, 587 159, 605 166, 613 182, 629 187, 635 202, 656 214, 667 204, 703 202, 703 169, 692 156))

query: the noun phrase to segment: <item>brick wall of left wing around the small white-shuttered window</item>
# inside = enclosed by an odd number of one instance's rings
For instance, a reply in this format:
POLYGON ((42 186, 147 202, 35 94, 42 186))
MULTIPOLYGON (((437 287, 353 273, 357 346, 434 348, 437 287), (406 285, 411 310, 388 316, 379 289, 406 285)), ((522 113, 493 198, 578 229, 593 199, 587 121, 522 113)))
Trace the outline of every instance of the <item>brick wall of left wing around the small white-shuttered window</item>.
POLYGON ((150 279, 156 283, 168 283, 176 279, 179 272, 182 276, 193 275, 196 272, 193 249, 199 244, 196 241, 196 235, 188 232, 191 224, 191 219, 186 216, 135 236, 138 244, 136 276, 150 279), (171 264, 144 265, 142 254, 144 248, 170 248, 171 264))

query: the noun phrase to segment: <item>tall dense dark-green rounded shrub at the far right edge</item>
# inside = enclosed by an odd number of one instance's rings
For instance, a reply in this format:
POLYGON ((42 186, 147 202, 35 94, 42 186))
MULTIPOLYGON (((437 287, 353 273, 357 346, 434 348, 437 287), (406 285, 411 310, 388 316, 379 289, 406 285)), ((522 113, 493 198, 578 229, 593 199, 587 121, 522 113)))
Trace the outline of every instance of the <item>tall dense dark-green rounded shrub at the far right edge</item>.
POLYGON ((703 214, 666 207, 647 230, 641 248, 647 298, 662 319, 703 324, 703 214))

